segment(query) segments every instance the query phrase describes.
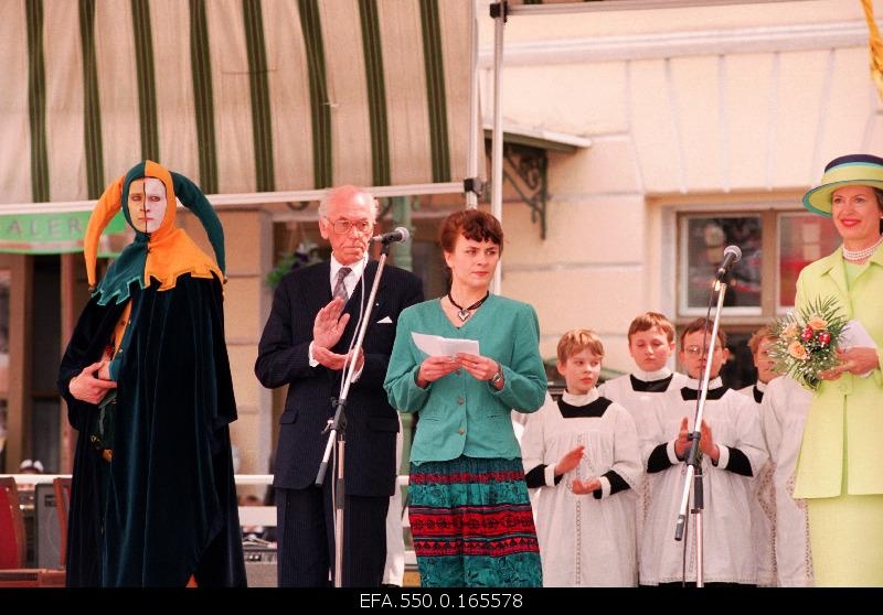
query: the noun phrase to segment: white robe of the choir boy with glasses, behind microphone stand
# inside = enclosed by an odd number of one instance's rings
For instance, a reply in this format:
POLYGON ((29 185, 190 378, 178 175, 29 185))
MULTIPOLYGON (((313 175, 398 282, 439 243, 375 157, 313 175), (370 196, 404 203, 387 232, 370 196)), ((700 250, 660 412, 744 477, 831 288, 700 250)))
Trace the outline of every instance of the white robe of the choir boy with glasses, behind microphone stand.
MULTIPOLYGON (((690 388, 698 381, 690 379, 690 388)), ((722 386, 715 378, 709 390, 722 386)), ((683 400, 680 390, 666 392, 666 402, 660 408, 659 424, 663 430, 659 440, 666 445, 669 461, 674 463, 667 470, 651 474, 651 506, 641 544, 640 579, 642 584, 677 583, 683 579, 683 541, 674 540, 674 524, 683 492, 685 465, 674 456, 683 417, 688 429, 693 430, 696 402, 683 400)), ((705 506, 703 510, 704 582, 754 584, 757 565, 752 544, 751 500, 753 476, 767 460, 764 436, 760 431, 756 404, 745 396, 728 389, 721 399, 706 399, 704 420, 712 429, 715 444, 720 446, 719 466, 705 456, 702 460, 705 506), (730 449, 738 449, 748 458, 752 477, 726 470, 730 449)), ((692 487, 692 486, 691 486, 692 487)), ((687 582, 695 582, 695 525, 688 508, 687 582)))

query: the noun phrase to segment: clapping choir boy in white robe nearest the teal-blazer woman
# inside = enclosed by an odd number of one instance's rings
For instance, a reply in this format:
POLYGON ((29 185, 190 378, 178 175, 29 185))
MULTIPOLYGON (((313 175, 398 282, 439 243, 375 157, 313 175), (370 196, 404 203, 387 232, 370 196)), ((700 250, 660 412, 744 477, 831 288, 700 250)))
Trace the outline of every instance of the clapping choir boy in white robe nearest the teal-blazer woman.
POLYGON ((522 456, 536 517, 545 586, 634 586, 635 489, 641 463, 635 421, 595 384, 604 346, 576 328, 558 342, 567 389, 528 421, 522 456))

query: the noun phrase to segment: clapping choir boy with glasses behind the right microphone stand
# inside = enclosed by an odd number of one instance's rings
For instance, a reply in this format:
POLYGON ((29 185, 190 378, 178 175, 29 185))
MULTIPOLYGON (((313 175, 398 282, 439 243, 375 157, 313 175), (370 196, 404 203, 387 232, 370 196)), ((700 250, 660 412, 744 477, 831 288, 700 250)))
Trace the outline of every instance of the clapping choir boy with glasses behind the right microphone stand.
MULTIPOLYGON (((726 335, 717 332, 708 339, 712 323, 691 322, 681 334, 680 358, 690 379, 681 390, 669 390, 660 409, 659 423, 671 440, 660 442, 650 454, 647 471, 659 473, 641 544, 641 583, 695 583, 695 520, 688 515, 687 571, 683 570, 684 542, 674 540, 674 522, 683 487, 681 463, 693 431, 700 378, 705 369, 708 344, 711 381, 700 427, 700 450, 705 493, 703 510, 705 584, 757 582, 757 565, 752 544, 751 506, 753 477, 767 460, 756 404, 721 382, 721 366, 728 358, 726 335)), ((692 498, 691 498, 692 500, 692 498)))

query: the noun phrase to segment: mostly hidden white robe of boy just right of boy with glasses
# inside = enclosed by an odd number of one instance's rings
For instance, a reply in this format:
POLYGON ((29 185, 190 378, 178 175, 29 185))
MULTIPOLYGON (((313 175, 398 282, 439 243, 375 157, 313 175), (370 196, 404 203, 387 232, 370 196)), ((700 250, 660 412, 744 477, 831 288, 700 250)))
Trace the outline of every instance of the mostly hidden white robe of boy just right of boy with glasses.
MULTIPOLYGON (((738 392, 757 403, 759 412, 760 404, 754 397, 755 387, 766 395, 767 385, 759 380, 744 389, 738 389, 738 392)), ((760 422, 763 429, 763 421, 760 422)), ((767 454, 769 454, 768 447, 767 454)), ((776 586, 775 522, 776 490, 773 487, 773 462, 767 460, 754 478, 754 498, 752 499, 752 536, 757 558, 757 584, 762 587, 776 586)))

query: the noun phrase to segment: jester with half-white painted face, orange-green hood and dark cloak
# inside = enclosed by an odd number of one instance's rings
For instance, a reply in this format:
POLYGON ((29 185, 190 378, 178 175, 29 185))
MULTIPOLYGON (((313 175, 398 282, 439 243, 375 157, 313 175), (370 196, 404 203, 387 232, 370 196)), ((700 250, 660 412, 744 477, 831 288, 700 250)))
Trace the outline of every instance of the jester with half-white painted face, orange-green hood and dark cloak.
POLYGON ((79 432, 67 585, 244 586, 221 222, 193 182, 146 161, 102 195, 84 252, 93 295, 58 376, 79 432), (175 227, 175 198, 216 260, 175 227), (98 240, 120 208, 135 240, 96 288, 98 240))

